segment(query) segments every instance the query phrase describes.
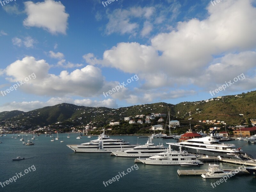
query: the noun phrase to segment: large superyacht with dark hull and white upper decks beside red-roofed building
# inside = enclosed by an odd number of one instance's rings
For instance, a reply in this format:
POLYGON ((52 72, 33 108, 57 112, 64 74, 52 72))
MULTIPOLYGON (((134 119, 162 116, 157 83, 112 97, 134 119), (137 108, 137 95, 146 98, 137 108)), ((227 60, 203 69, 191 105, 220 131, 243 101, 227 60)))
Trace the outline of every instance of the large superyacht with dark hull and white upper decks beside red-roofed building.
MULTIPOLYGON (((216 128, 217 129, 217 128, 216 128)), ((214 135, 215 132, 212 132, 210 136, 203 138, 193 138, 188 139, 187 141, 180 143, 166 143, 171 145, 173 150, 186 150, 189 153, 197 154, 197 155, 207 155, 207 156, 215 156, 229 159, 238 159, 238 160, 248 160, 245 159, 240 149, 236 149, 234 144, 219 144, 219 140, 217 137, 218 133, 214 135)))

